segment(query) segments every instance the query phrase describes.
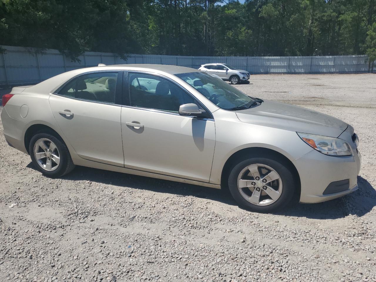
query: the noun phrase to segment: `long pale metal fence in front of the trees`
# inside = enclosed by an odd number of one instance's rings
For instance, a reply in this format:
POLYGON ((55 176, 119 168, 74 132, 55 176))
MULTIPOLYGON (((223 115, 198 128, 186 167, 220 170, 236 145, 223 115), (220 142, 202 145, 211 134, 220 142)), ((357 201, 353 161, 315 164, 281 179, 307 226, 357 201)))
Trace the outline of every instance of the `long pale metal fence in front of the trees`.
POLYGON ((123 60, 114 53, 85 52, 79 62, 73 62, 58 50, 39 52, 33 48, 0 46, 0 85, 37 83, 59 73, 77 68, 93 67, 99 63, 114 64, 165 64, 199 68, 206 63, 226 63, 251 74, 323 74, 323 73, 368 73, 368 57, 356 56, 311 56, 311 57, 208 57, 164 56, 130 54, 123 60))

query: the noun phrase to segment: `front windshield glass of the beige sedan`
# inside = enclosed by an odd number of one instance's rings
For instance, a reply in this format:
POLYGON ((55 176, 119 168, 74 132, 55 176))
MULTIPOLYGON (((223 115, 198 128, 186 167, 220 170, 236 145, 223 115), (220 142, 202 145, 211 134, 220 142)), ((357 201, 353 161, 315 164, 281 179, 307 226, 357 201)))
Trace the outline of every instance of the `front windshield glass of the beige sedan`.
POLYGON ((225 110, 248 109, 255 103, 255 100, 258 100, 252 99, 222 79, 208 73, 200 71, 175 75, 190 84, 209 101, 225 110))

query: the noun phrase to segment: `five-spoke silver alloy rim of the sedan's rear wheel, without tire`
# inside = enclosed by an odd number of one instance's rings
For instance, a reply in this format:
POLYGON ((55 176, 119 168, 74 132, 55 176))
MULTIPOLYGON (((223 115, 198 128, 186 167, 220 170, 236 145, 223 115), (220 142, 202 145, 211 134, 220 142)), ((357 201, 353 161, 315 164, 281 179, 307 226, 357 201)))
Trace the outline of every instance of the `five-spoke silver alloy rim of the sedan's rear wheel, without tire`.
POLYGON ((47 138, 38 139, 34 144, 34 157, 41 168, 56 170, 60 164, 60 153, 55 143, 47 138))

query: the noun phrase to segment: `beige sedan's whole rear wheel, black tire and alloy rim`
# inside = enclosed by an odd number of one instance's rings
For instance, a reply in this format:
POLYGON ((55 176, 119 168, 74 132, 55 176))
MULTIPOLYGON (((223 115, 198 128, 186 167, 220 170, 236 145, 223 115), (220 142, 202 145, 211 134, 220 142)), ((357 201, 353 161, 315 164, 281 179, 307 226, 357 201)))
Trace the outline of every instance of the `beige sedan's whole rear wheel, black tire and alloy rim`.
POLYGON ((75 167, 64 141, 59 136, 54 136, 51 133, 37 133, 34 135, 29 143, 29 153, 36 169, 48 177, 61 177, 70 173, 75 167), (43 146, 47 149, 45 153, 43 146), (56 149, 53 149, 53 147, 56 147, 56 149), (50 148, 53 149, 51 153, 48 152, 50 148), (38 160, 36 157, 38 157, 38 160), (47 163, 47 159, 52 165, 47 163), (59 159, 58 164, 57 159, 59 159))

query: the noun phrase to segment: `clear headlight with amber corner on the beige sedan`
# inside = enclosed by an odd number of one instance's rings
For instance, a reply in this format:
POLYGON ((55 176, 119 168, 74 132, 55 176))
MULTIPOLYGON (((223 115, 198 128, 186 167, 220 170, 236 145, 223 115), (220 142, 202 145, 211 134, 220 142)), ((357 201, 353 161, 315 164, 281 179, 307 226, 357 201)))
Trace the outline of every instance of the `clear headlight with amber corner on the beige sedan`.
POLYGON ((302 132, 298 133, 299 137, 320 153, 329 156, 349 156, 351 150, 349 144, 340 138, 308 134, 302 132))

